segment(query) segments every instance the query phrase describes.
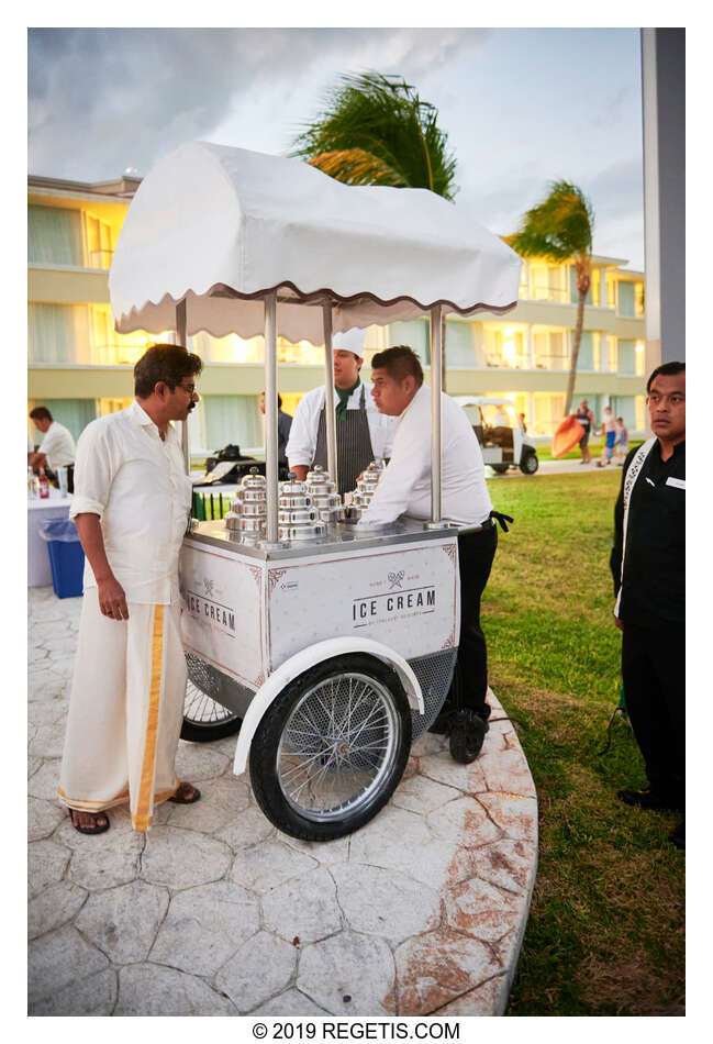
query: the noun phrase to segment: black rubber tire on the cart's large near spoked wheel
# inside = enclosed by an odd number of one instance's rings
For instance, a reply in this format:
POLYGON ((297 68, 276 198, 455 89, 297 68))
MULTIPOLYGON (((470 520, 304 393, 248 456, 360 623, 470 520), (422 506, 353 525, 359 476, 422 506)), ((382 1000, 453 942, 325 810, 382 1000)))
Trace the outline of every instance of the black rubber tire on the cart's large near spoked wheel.
POLYGON ((324 660, 294 678, 267 709, 250 744, 253 793, 269 821, 278 830, 302 841, 335 841, 368 823, 396 790, 411 749, 411 709, 399 676, 380 659, 350 653, 324 660), (285 797, 277 775, 277 754, 285 726, 304 690, 331 677, 355 671, 368 675, 388 689, 398 720, 398 747, 391 769, 368 804, 345 817, 319 822, 300 814, 285 797))

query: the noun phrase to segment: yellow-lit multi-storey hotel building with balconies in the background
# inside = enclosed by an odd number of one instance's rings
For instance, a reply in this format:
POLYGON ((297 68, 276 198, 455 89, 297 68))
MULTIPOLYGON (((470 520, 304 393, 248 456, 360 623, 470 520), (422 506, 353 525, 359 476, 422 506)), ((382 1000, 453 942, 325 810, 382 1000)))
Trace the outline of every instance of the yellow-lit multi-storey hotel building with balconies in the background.
MULTIPOLYGON (((47 406, 75 437, 96 417, 129 404, 133 364, 151 341, 171 336, 124 336, 113 329, 109 267, 140 181, 129 176, 94 184, 44 177, 27 181, 27 409, 47 406)), ((587 398, 598 422, 609 404, 631 434, 643 434, 644 274, 625 264, 622 258, 593 258, 575 404, 587 398)), ((448 318, 448 392, 510 396, 528 431, 547 442, 562 415, 576 302, 571 265, 526 262, 520 300, 508 315, 448 318)), ((263 338, 200 333, 189 340, 205 364, 201 402, 190 424, 194 458, 227 443, 259 451, 263 338)), ((366 332, 367 379, 374 353, 392 344, 411 345, 430 365, 425 319, 371 326, 366 332)), ((288 413, 305 391, 323 382, 322 358, 323 349, 309 342, 278 340, 278 387, 288 413)), ((29 424, 32 438, 40 441, 29 424)))

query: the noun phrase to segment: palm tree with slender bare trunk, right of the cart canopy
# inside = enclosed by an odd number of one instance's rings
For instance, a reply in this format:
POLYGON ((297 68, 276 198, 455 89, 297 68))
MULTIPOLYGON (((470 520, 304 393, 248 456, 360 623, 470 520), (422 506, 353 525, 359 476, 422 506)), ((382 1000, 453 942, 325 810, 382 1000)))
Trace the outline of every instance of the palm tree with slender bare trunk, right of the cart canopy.
POLYGON ((577 318, 565 395, 565 417, 569 415, 575 393, 577 359, 582 340, 584 299, 589 293, 592 263, 594 211, 580 188, 570 181, 552 181, 549 195, 528 210, 508 243, 523 257, 571 260, 577 273, 577 318))

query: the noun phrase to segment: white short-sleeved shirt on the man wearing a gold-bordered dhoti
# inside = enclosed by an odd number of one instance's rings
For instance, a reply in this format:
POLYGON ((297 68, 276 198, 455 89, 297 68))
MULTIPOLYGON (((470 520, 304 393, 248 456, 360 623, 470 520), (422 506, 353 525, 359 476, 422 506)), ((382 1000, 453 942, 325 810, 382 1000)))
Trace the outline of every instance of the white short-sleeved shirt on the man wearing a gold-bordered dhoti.
MULTIPOLYGON (((178 554, 188 523, 192 486, 180 438, 158 427, 134 401, 88 424, 77 444, 74 519, 98 514, 104 549, 126 601, 168 604, 178 598, 178 554)), ((85 588, 96 587, 85 564, 85 588)))

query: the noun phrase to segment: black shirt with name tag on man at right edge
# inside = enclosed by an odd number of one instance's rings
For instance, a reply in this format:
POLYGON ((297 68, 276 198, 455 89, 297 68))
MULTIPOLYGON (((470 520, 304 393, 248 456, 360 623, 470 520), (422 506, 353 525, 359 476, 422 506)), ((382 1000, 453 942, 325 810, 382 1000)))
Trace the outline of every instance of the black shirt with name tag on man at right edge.
MULTIPOLYGON (((638 447, 637 447, 638 448, 638 447)), ((614 508, 614 547, 610 559, 614 593, 619 592, 624 527, 624 479, 634 458, 624 463, 622 488, 614 508)), ((628 504, 626 560, 619 617, 640 626, 660 627, 686 621, 686 443, 661 460, 654 443, 628 504)))

